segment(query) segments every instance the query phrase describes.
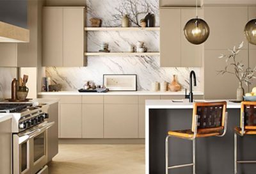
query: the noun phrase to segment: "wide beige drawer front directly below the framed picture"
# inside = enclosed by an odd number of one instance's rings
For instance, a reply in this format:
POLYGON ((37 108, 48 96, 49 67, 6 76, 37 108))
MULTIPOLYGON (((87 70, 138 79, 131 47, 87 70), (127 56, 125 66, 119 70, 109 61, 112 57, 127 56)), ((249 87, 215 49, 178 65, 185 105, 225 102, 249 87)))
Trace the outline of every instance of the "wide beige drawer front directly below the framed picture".
POLYGON ((138 96, 104 96, 104 104, 138 104, 138 96))

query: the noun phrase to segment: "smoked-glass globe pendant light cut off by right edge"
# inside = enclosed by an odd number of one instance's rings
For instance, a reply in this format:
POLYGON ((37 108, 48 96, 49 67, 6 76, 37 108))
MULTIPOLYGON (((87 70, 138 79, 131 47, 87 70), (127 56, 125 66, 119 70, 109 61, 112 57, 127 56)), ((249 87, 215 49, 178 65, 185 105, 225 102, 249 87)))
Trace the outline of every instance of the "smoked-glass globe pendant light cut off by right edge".
POLYGON ((244 34, 248 42, 256 45, 256 19, 250 20, 246 24, 244 28, 244 34))

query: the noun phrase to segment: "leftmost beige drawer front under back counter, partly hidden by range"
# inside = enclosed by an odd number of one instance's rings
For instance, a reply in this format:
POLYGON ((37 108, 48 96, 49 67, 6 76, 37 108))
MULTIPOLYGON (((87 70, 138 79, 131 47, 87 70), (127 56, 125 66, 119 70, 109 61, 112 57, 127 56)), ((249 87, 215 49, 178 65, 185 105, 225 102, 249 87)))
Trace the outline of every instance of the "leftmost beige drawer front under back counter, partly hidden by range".
POLYGON ((82 97, 79 95, 39 95, 43 99, 59 99, 60 104, 81 104, 82 97))

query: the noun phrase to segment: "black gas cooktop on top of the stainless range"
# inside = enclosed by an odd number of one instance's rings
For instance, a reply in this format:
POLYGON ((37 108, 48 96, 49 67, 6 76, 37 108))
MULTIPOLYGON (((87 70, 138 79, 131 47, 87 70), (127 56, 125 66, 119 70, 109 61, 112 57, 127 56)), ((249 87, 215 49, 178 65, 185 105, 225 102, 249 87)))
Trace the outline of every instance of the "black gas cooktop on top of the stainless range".
POLYGON ((32 103, 0 103, 0 113, 20 113, 32 106, 32 103))

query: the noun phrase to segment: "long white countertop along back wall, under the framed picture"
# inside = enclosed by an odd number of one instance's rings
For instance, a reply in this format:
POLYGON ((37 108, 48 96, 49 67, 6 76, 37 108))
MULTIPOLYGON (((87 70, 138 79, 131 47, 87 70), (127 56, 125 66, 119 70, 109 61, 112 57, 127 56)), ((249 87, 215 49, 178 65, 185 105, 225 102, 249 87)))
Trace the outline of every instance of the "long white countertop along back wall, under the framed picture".
MULTIPOLYGON (((194 95, 204 95, 202 91, 193 91, 194 95)), ((107 93, 79 93, 79 91, 40 92, 38 95, 185 95, 185 91, 109 91, 107 93)))

